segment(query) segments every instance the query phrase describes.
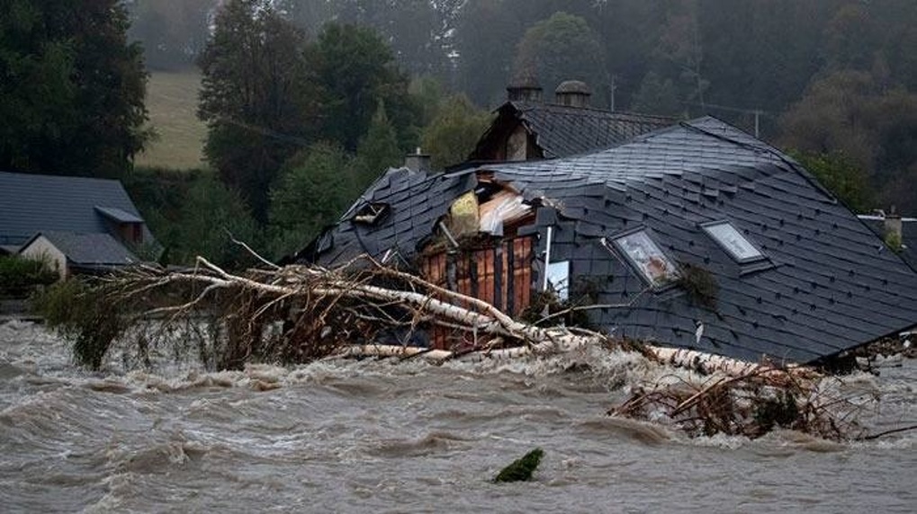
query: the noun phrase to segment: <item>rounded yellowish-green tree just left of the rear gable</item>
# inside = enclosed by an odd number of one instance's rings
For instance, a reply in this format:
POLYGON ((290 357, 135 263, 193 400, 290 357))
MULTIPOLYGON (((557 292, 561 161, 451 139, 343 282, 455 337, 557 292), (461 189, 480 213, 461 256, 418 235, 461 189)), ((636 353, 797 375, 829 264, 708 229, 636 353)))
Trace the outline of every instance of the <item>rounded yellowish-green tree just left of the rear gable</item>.
POLYGON ((431 156, 434 170, 443 170, 468 159, 492 116, 477 109, 464 94, 449 96, 439 105, 436 117, 424 127, 424 151, 431 156))

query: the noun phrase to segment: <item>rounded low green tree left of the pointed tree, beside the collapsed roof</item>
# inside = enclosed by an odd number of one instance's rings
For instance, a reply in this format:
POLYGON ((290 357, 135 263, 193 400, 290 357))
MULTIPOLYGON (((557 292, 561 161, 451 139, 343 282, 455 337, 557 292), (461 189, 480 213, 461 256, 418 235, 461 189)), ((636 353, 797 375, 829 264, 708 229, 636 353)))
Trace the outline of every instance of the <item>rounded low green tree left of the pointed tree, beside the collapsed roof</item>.
POLYGON ((271 254, 289 255, 336 222, 359 196, 354 184, 353 161, 335 143, 293 156, 271 189, 271 254))

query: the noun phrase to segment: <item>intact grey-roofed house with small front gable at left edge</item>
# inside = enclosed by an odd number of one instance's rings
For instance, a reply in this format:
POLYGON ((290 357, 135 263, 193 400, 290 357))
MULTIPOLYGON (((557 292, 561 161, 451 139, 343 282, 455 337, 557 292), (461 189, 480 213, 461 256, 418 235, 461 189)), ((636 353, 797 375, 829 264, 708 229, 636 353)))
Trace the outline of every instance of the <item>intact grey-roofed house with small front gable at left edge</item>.
POLYGON ((118 180, 0 172, 0 247, 61 278, 139 262, 157 245, 118 180))

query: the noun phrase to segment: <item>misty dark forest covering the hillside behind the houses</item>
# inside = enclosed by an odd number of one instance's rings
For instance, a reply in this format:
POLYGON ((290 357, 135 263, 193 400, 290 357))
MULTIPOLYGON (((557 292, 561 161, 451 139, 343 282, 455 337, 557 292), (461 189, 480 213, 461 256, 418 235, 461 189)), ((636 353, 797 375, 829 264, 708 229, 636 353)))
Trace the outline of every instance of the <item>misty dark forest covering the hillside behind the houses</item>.
MULTIPOLYGON (((507 82, 521 73, 534 74, 547 97, 558 82, 579 79, 590 84, 599 107, 710 114, 749 132, 757 119, 762 138, 792 152, 856 210, 917 211, 917 3, 908 0, 99 0, 97 10, 79 4, 11 0, 4 7, 10 12, 0 13, 10 15, 0 16, 0 71, 19 78, 0 84, 0 93, 25 99, 0 105, 8 120, 0 129, 7 131, 0 166, 122 177, 177 260, 198 251, 222 255, 229 246, 212 230, 217 225, 262 239, 261 247, 282 255, 333 223, 404 152, 422 146, 437 167, 460 160, 486 126, 487 111, 503 102, 507 82), (80 11, 77 20, 109 13, 106 21, 114 23, 103 25, 113 29, 96 29, 94 37, 109 38, 98 44, 70 38, 60 48, 41 46, 29 39, 40 32, 29 31, 38 9, 48 9, 49 24, 67 19, 66 9, 80 11), (123 48, 117 70, 130 87, 105 90, 105 98, 113 99, 106 112, 124 113, 108 125, 127 129, 107 128, 107 143, 94 141, 97 151, 73 156, 58 144, 76 138, 67 139, 67 131, 89 137, 98 130, 77 123, 49 128, 40 119, 54 115, 57 104, 66 116, 54 119, 82 119, 64 100, 78 99, 86 84, 16 84, 28 83, 23 76, 66 76, 51 70, 67 66, 111 66, 104 48, 123 48), (40 66, 20 58, 29 52, 42 55, 40 66), (211 171, 133 169, 151 137, 138 124, 138 63, 141 71, 200 67, 198 115, 207 124, 211 171), (53 95, 55 104, 35 113, 23 108, 39 104, 41 95, 53 95), (126 107, 118 98, 127 98, 126 107), (31 158, 34 141, 53 148, 56 159, 31 158), (202 247, 211 239, 220 247, 202 247)), ((64 35, 81 29, 65 25, 64 35)), ((78 76, 88 85, 92 78, 78 76)))

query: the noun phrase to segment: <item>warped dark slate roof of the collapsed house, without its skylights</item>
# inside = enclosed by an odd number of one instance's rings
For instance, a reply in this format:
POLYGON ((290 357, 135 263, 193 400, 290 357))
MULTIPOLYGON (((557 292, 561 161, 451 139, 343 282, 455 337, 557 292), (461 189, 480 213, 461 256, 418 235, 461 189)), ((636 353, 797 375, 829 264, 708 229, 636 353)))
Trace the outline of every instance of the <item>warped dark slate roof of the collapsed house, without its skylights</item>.
POLYGON ((914 270, 795 161, 711 117, 569 159, 432 176, 392 170, 300 257, 330 265, 395 249, 411 261, 451 202, 474 189, 478 171, 543 205, 525 229, 540 235, 543 251, 554 228, 552 262, 567 260, 571 277, 594 280, 596 303, 633 302, 591 311, 616 335, 811 362, 917 324, 914 270), (365 202, 391 212, 376 224, 350 221, 365 202), (766 258, 736 261, 702 227, 719 221, 766 258), (647 294, 646 280, 606 244, 636 228, 672 259, 708 269, 717 308, 696 305, 678 287, 647 294))

